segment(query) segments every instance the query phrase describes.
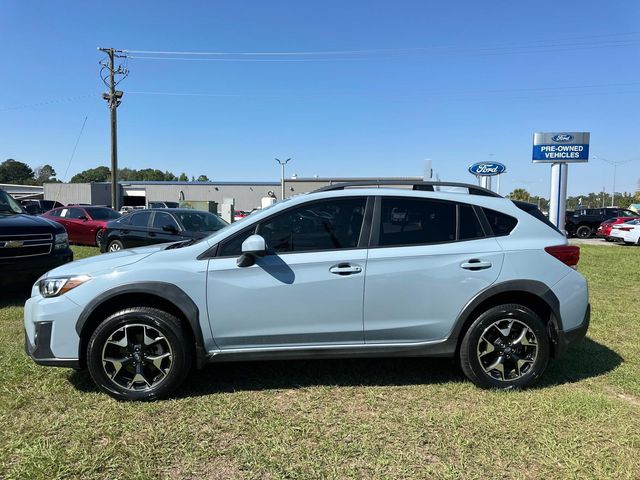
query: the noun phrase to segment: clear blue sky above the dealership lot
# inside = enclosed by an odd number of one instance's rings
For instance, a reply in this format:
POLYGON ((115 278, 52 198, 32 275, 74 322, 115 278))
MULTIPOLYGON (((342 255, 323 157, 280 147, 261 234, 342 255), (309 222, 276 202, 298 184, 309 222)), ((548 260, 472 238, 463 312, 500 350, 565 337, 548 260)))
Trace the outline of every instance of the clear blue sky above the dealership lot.
MULTIPOLYGON (((301 176, 422 175, 432 158, 442 179, 472 181, 467 166, 492 159, 508 168, 502 193, 546 196, 549 166, 531 164, 531 137, 564 130, 592 132, 593 154, 633 160, 616 190, 635 190, 640 177, 637 0, 5 0, 0 161, 50 163, 62 177, 87 116, 67 178, 109 164, 97 47, 383 50, 242 57, 293 62, 129 59, 122 167, 276 180, 274 157, 293 157, 288 173, 301 176)), ((613 169, 592 160, 569 176, 570 194, 609 191, 613 169)))

